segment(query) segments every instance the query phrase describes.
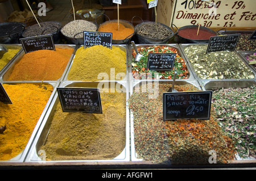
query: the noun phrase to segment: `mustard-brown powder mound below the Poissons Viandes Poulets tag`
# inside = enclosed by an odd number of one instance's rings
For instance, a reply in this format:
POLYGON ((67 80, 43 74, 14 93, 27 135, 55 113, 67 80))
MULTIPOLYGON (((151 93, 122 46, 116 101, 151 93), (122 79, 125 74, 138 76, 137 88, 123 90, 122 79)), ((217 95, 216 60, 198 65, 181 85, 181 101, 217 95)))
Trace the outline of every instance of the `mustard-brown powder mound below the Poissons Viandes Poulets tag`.
POLYGON ((126 94, 101 89, 102 114, 63 112, 57 104, 46 143, 47 160, 113 159, 125 148, 126 94))

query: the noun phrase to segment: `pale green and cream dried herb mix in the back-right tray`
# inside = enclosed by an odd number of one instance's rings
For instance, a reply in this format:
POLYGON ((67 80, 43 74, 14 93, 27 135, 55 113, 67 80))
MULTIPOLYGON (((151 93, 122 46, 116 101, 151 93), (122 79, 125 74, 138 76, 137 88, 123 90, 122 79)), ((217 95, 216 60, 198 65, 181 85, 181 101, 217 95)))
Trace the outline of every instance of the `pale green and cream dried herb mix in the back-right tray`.
POLYGON ((184 48, 197 76, 201 79, 253 79, 253 71, 234 52, 206 53, 207 45, 184 48))

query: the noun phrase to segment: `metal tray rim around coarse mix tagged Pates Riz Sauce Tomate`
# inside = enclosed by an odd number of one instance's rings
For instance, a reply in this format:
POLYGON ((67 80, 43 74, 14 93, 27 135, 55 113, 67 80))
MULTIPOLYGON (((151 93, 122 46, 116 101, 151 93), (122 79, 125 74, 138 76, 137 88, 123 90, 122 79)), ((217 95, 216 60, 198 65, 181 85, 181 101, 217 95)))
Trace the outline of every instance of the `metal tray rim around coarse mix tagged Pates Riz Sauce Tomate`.
MULTIPOLYGON (((154 82, 158 82, 159 84, 160 83, 167 83, 167 84, 170 84, 170 87, 172 86, 172 82, 173 81, 164 81, 164 80, 160 80, 160 81, 152 81, 152 83, 154 82)), ((143 83, 146 83, 146 82, 143 82, 143 81, 138 81, 138 82, 133 82, 132 83, 132 89, 131 89, 131 95, 133 94, 133 90, 135 89, 135 87, 139 87, 141 85, 143 85, 143 83)), ((199 83, 196 81, 196 80, 176 80, 175 81, 175 85, 193 85, 195 87, 197 87, 199 90, 202 90, 199 83)), ((136 150, 135 150, 135 144, 134 144, 134 116, 133 116, 133 112, 130 111, 130 127, 131 127, 131 161, 143 161, 143 159, 141 158, 138 158, 138 155, 136 153, 136 150)))

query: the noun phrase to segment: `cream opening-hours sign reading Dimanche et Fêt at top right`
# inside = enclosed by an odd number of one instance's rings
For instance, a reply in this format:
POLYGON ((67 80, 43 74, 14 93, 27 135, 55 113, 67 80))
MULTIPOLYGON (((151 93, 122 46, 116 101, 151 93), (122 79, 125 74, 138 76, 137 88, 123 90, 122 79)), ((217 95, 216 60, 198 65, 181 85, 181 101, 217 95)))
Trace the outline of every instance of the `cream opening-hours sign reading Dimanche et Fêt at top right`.
MULTIPOLYGON (((171 0, 172 1, 172 0, 171 0)), ((255 27, 256 11, 254 0, 176 0, 174 16, 170 21, 176 27, 199 25, 204 27, 255 27)), ((171 9, 172 7, 164 7, 171 9)), ((167 4, 167 3, 166 3, 167 4)), ((166 16, 171 16, 172 11, 166 16)), ((162 23, 162 22, 159 22, 162 23)), ((167 26, 170 26, 167 24, 167 26)))

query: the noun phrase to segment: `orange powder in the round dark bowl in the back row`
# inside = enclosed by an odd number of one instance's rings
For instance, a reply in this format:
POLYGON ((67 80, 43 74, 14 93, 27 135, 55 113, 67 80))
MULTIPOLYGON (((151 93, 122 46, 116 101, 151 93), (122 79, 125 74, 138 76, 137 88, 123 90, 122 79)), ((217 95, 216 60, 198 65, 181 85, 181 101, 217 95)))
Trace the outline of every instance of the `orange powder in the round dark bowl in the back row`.
POLYGON ((134 33, 134 29, 126 28, 121 23, 119 23, 119 30, 118 23, 106 23, 101 25, 98 28, 98 31, 112 33, 113 40, 124 40, 126 38, 129 38, 129 35, 132 35, 134 33))

